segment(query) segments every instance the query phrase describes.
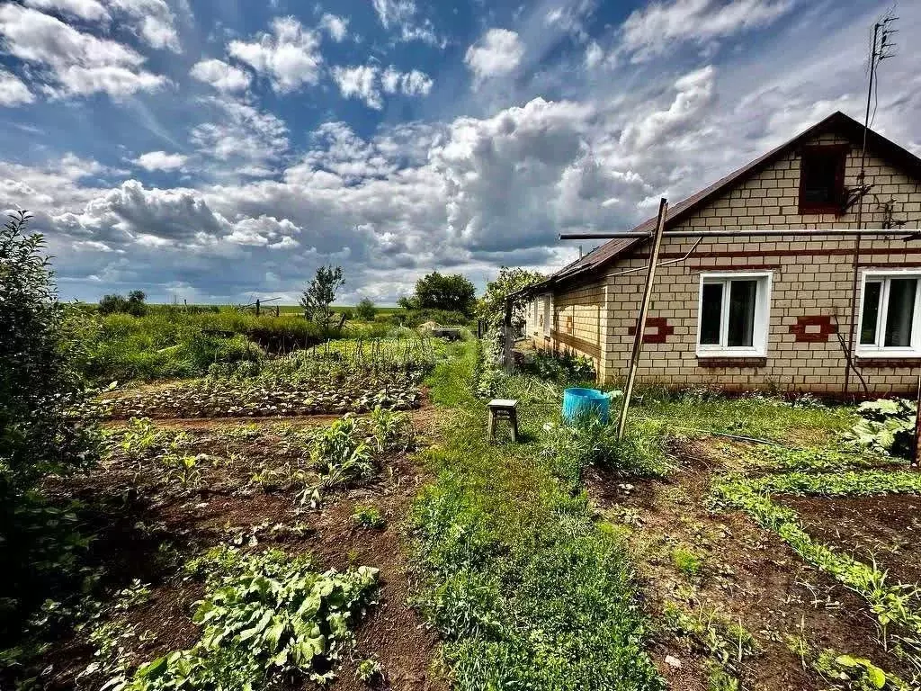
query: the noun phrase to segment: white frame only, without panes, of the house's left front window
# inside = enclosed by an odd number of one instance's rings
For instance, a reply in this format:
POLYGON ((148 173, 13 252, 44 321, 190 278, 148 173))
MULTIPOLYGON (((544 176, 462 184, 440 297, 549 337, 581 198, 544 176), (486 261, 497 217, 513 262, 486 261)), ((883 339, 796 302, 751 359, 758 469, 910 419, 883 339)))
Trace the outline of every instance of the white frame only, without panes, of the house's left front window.
POLYGON ((697 293, 697 350, 699 357, 767 357, 767 336, 771 323, 771 283, 774 278, 770 271, 728 271, 707 272, 700 275, 700 287, 697 293), (754 326, 752 329, 752 346, 723 345, 727 342, 729 332, 729 281, 757 280, 755 293, 754 326), (701 344, 701 322, 704 318, 704 284, 723 284, 723 305, 720 310, 719 344, 701 344))

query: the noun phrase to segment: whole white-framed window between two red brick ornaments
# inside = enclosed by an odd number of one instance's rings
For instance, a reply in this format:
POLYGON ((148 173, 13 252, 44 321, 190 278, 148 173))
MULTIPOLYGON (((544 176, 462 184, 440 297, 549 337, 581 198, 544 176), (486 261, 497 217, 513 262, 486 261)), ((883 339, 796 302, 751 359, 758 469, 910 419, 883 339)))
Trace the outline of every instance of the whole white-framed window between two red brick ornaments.
POLYGON ((697 355, 764 357, 771 274, 702 274, 697 309, 697 355))

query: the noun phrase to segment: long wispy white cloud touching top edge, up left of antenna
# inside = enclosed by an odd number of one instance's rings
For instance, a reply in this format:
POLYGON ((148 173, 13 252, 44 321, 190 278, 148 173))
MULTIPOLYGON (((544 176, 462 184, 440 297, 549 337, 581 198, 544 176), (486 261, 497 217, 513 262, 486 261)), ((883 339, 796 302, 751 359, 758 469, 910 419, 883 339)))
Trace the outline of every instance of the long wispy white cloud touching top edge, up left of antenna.
POLYGON ((634 62, 664 53, 682 41, 705 43, 763 27, 786 14, 794 0, 671 0, 634 12, 622 26, 625 53, 634 62))

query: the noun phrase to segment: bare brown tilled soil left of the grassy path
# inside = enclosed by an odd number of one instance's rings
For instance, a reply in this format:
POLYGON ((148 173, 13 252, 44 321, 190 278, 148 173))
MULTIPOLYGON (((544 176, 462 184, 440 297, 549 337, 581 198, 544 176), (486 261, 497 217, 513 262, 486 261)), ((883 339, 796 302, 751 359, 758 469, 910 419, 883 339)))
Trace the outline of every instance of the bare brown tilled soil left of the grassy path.
MULTIPOLYGON (((427 412, 420 411, 417 427, 426 427, 429 421, 427 412)), ((170 427, 188 431, 198 439, 196 443, 204 439, 205 445, 214 431, 211 425, 183 427, 175 421, 170 427)), ((285 456, 284 450, 265 446, 265 438, 239 443, 247 455, 285 456), (257 443, 263 448, 255 448, 257 443)), ((219 473, 220 468, 210 472, 219 473)), ((134 579, 150 584, 149 601, 121 615, 123 623, 136 625, 144 634, 141 642, 133 639, 127 652, 133 664, 194 644, 199 632, 192 624, 193 605, 204 594, 204 586, 183 578, 181 564, 207 547, 229 541, 243 549, 278 547, 290 554, 310 553, 323 569, 379 568, 379 603, 356 627, 355 650, 338 663, 337 679, 325 688, 367 688, 356 679, 356 665, 373 656, 386 674, 378 688, 447 689, 446 682, 430 671, 437 657, 437 636, 409 602, 415 589, 402 537, 406 512, 426 476, 402 455, 381 459, 379 468, 372 481, 329 495, 319 510, 302 507, 293 491, 242 486, 242 474, 230 465, 223 483, 220 477, 209 477, 200 490, 152 496, 143 478, 139 485, 134 482, 139 479, 136 471, 112 467, 71 478, 53 489, 59 498, 87 501, 83 518, 98 534, 90 547, 91 557, 106 567, 102 581, 106 591, 117 591, 134 579), (386 526, 379 530, 357 526, 352 518, 356 503, 379 509, 386 526)), ((78 678, 92 662, 93 648, 86 635, 70 635, 49 650, 42 674, 46 688, 88 690, 106 681, 99 674, 78 678)))

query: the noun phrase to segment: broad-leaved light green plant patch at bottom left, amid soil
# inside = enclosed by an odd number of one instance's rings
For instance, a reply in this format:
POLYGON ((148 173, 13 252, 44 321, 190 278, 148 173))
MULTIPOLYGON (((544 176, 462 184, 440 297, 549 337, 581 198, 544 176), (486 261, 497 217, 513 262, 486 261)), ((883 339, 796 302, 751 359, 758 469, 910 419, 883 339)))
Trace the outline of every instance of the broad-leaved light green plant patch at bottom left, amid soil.
MULTIPOLYGON (((219 556, 192 620, 202 636, 142 664, 126 691, 268 688, 302 674, 324 684, 332 663, 352 641, 352 628, 377 589, 376 568, 320 573, 309 558, 278 551, 219 556)), ((196 568, 207 568, 199 561, 196 568)))

